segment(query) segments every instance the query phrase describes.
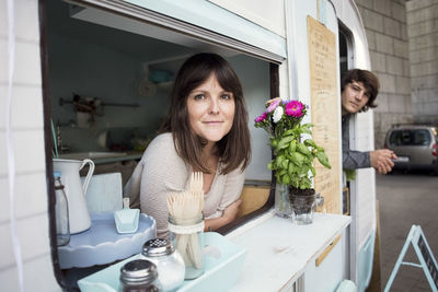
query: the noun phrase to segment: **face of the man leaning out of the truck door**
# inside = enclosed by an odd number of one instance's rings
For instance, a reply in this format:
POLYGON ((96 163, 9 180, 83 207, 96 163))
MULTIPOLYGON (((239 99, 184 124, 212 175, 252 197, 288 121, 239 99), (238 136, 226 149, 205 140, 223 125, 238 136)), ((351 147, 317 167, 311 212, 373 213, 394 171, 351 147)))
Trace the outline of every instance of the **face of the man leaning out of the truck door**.
POLYGON ((356 114, 369 100, 369 93, 362 82, 353 81, 342 92, 342 115, 356 114))

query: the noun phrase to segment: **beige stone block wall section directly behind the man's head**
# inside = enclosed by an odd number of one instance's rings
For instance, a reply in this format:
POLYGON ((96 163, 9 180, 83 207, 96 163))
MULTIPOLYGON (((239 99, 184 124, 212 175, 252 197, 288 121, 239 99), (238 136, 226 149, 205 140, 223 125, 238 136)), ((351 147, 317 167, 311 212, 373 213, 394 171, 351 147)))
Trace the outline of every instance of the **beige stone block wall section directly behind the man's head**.
POLYGON ((355 2, 367 33, 371 70, 381 82, 374 109, 374 147, 380 149, 391 125, 413 121, 405 1, 355 2))

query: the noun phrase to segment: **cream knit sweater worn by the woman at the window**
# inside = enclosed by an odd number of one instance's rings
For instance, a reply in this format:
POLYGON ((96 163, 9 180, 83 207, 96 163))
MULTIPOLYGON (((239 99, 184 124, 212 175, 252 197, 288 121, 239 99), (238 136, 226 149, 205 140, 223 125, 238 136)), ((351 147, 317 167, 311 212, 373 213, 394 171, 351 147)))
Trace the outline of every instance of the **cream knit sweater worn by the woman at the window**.
MULTIPOLYGON (((218 170, 221 165, 219 163, 218 170)), ((168 236, 166 197, 188 189, 192 166, 177 155, 172 133, 159 135, 145 151, 141 161, 124 188, 131 207, 157 220, 157 235, 168 236)), ((205 195, 204 217, 219 218, 242 192, 244 173, 240 168, 227 175, 217 172, 210 191, 205 195)))

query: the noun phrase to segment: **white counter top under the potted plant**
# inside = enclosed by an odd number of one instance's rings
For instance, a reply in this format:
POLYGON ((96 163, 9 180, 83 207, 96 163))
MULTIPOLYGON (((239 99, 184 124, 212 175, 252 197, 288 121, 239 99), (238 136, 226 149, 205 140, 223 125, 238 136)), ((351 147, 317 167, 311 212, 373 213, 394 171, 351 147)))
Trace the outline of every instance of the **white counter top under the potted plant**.
POLYGON ((227 237, 246 249, 231 291, 279 291, 295 282, 350 221, 346 215, 315 213, 312 224, 295 225, 269 211, 231 232, 227 237))

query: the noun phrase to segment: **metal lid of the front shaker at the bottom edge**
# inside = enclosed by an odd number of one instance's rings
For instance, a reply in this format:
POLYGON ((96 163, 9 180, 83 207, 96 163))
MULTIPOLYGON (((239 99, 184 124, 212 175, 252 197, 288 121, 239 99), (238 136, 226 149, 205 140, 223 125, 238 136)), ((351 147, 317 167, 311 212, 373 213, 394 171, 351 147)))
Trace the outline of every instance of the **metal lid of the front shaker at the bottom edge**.
POLYGON ((146 259, 131 260, 120 268, 120 281, 130 285, 142 285, 158 278, 157 266, 146 259))

